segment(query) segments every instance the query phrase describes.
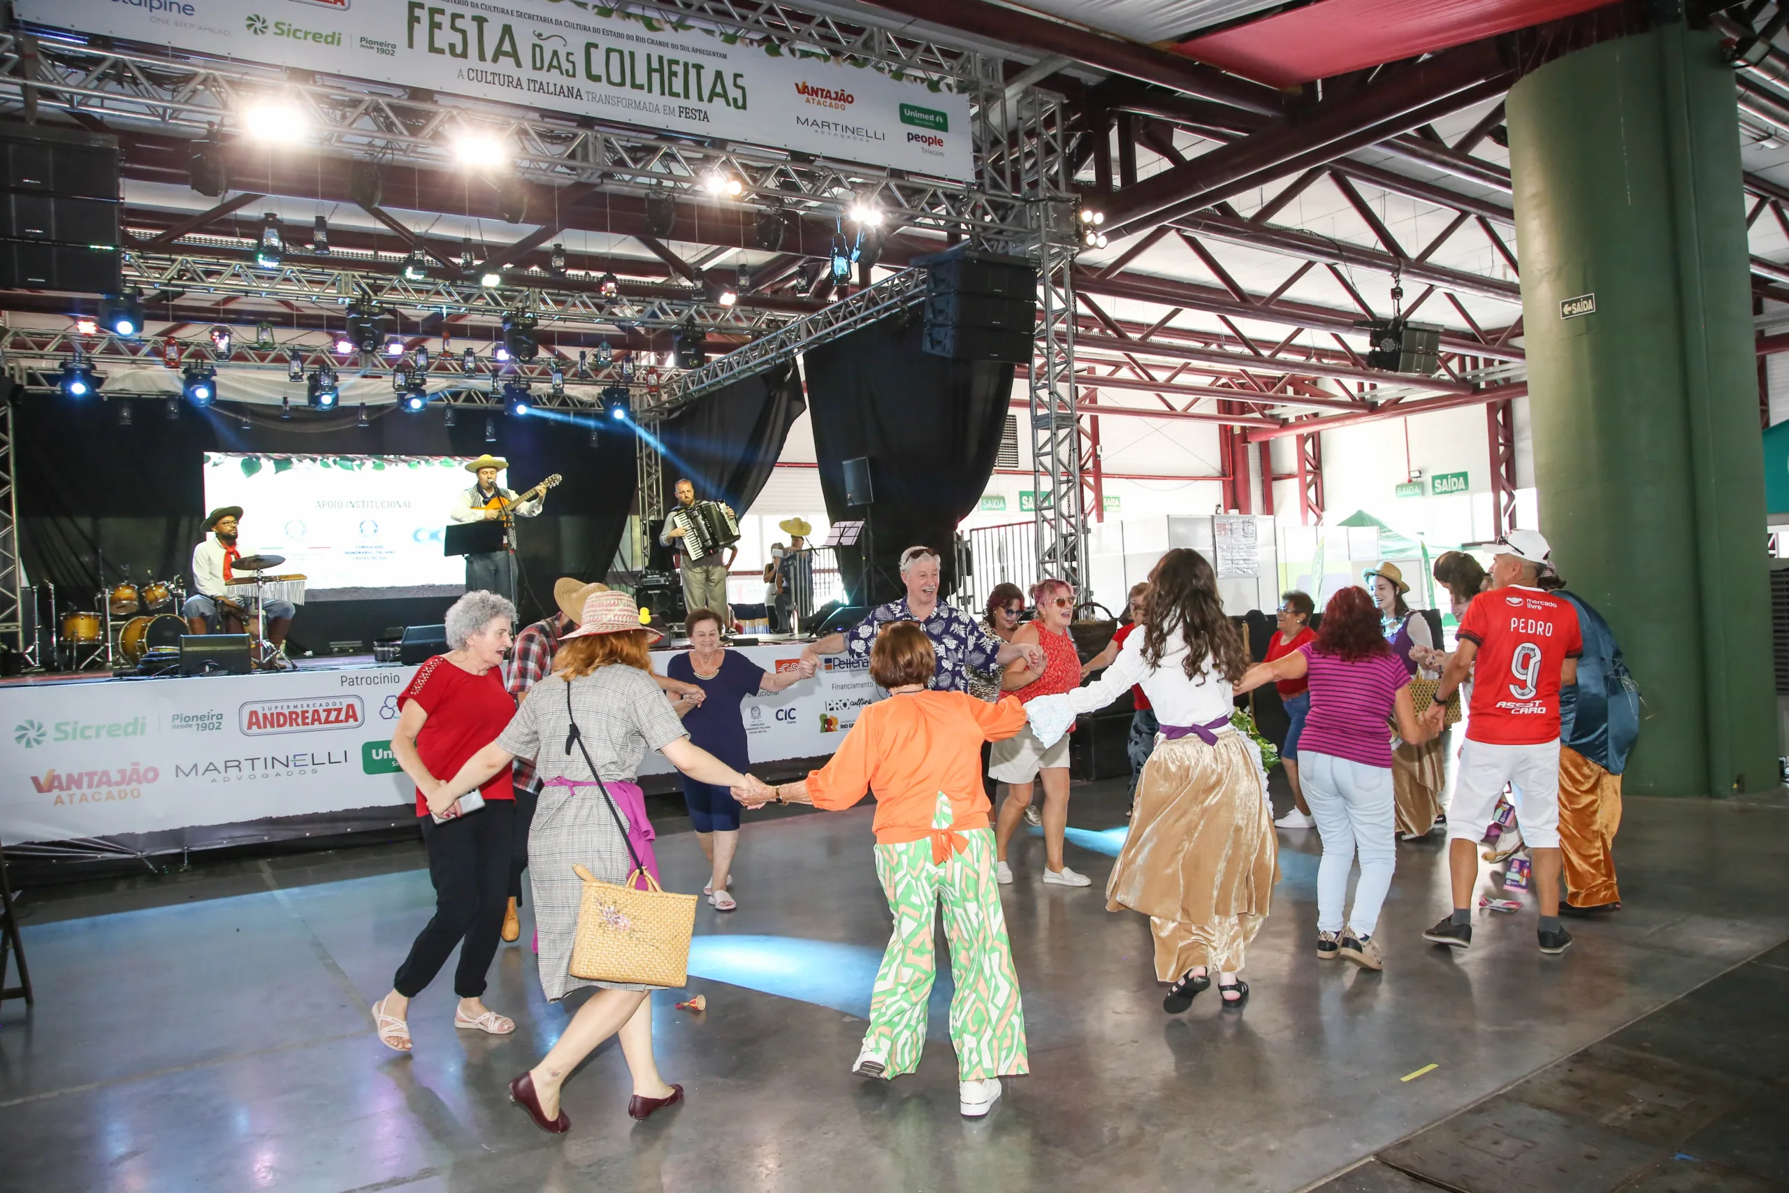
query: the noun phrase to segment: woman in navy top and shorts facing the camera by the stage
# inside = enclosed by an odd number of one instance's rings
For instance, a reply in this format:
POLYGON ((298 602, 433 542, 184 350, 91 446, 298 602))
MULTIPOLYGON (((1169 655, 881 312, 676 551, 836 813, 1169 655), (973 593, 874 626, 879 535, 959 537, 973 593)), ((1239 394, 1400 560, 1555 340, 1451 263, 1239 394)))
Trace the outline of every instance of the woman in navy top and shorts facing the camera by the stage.
MULTIPOLYGON (((794 671, 771 674, 744 655, 723 649, 721 615, 712 608, 694 610, 683 622, 683 631, 689 633, 691 649, 687 655, 676 655, 666 665, 666 674, 701 689, 699 698, 676 703, 689 740, 735 771, 744 771, 751 766, 751 758, 746 749, 746 717, 741 701, 759 692, 780 692, 791 683, 807 680, 814 674, 814 664, 803 658, 794 671)), ((696 825, 696 841, 714 864, 714 875, 701 893, 708 896, 710 907, 730 912, 739 907, 739 901, 726 893, 726 885, 733 880, 728 867, 739 850, 739 801, 726 787, 698 783, 689 776, 683 776, 683 801, 689 803, 689 819, 696 825)))

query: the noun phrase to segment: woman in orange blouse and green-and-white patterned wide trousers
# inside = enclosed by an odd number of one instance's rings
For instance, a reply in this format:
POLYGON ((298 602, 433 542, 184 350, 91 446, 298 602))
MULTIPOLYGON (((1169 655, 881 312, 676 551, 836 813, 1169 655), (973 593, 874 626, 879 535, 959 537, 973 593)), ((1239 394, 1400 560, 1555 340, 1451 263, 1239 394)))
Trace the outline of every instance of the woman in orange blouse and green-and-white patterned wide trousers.
POLYGON ((875 787, 877 878, 894 932, 869 1002, 869 1030, 853 1073, 893 1079, 920 1066, 925 1005, 932 993, 932 919, 945 905, 950 973, 950 1041, 957 1048, 959 1109, 986 1114, 1000 1079, 1030 1071, 1025 1009, 1007 944, 995 833, 982 791, 982 742, 1013 737, 1025 708, 968 692, 934 692, 936 658, 925 631, 900 621, 882 628, 869 674, 889 699, 869 705, 832 760, 800 783, 735 789, 741 803, 812 803, 839 812, 875 787))

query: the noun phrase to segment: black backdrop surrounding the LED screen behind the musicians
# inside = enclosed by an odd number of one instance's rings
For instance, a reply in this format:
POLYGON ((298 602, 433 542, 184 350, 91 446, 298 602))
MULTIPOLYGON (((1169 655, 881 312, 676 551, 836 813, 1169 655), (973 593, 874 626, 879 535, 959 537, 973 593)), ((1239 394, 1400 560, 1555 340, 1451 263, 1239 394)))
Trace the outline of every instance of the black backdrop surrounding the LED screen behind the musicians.
MULTIPOLYGON (((204 453, 478 456, 510 461, 510 483, 528 488, 549 472, 565 476, 546 513, 521 524, 522 621, 546 617, 558 576, 599 580, 608 572, 633 501, 633 433, 605 427, 590 447, 589 427, 546 419, 487 415, 458 408, 458 426, 444 408, 410 415, 392 406, 317 413, 293 408, 281 419, 268 406, 195 410, 165 415, 161 401, 132 401, 134 426, 118 426, 127 399, 75 402, 27 395, 14 401, 20 551, 30 581, 54 581, 63 608, 89 608, 104 583, 129 576, 170 580, 190 572, 204 519, 204 453), (487 419, 497 442, 485 442, 487 419)), ((467 485, 472 483, 471 474, 467 485)), ((447 512, 442 512, 442 522, 447 512)), ((254 510, 242 538, 254 547, 254 510)), ((403 576, 392 578, 403 585, 403 576)), ((315 601, 299 610, 292 646, 324 653, 329 642, 369 644, 388 626, 438 622, 451 597, 315 601)))

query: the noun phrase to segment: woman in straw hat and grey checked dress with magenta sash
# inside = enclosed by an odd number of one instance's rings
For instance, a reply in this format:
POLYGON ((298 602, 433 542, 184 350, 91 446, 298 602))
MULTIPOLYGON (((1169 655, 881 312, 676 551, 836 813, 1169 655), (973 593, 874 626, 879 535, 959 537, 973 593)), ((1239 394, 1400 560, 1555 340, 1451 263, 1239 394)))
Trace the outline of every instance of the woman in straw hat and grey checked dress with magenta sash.
POLYGON ((633 869, 632 842, 646 867, 657 869, 646 801, 633 782, 646 751, 660 751, 671 766, 703 783, 746 783, 744 774, 689 742, 683 723, 653 683, 648 647, 660 637, 640 624, 640 610, 628 594, 590 594, 578 628, 560 640, 553 674, 535 685, 497 740, 472 755, 429 798, 429 803, 451 807, 517 757, 531 757, 546 782, 528 833, 528 873, 540 932, 540 989, 558 1002, 580 986, 603 987, 578 1007, 547 1055, 510 1082, 510 1096, 537 1127, 555 1134, 571 1129, 560 1109, 560 1086, 598 1045, 615 1034, 633 1075, 628 1114, 646 1118, 683 1100, 683 1087, 667 1086, 653 1059, 651 987, 590 982, 569 971, 583 894, 572 867, 583 866, 603 882, 624 884, 633 869), (572 721, 624 817, 626 841, 585 766, 583 751, 569 740, 572 721))

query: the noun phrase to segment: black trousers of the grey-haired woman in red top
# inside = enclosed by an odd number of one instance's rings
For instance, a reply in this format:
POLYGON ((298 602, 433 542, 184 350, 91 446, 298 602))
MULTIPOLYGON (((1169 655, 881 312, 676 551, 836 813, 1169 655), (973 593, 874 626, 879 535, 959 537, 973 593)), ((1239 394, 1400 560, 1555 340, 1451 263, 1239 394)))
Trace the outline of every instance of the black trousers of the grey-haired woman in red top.
POLYGON ((481 812, 467 812, 445 825, 422 817, 422 842, 429 850, 429 880, 435 884, 435 918, 410 946, 392 987, 415 998, 435 980, 454 944, 460 966, 453 991, 460 998, 485 993, 485 973, 497 955, 503 912, 510 900, 510 830, 515 805, 487 800, 481 812))

